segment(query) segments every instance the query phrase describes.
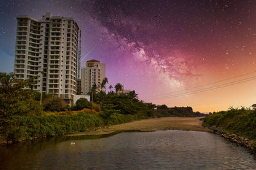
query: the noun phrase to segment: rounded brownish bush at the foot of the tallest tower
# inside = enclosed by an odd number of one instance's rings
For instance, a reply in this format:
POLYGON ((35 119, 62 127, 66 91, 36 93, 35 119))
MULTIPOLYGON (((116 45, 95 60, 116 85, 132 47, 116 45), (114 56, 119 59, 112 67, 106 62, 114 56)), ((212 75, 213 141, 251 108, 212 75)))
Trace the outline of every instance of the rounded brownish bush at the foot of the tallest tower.
POLYGON ((45 111, 65 111, 65 108, 67 108, 65 101, 58 96, 47 97, 42 106, 45 111))

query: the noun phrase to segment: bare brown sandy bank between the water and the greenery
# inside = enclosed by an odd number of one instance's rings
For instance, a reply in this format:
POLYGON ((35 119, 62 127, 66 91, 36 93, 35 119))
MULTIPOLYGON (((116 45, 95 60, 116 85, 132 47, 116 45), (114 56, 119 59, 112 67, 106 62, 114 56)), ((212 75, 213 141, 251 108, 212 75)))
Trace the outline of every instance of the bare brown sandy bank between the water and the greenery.
POLYGON ((149 118, 129 122, 127 124, 111 125, 106 128, 98 128, 95 131, 79 132, 67 136, 81 136, 94 134, 111 134, 118 131, 157 131, 157 130, 184 130, 184 131, 211 131, 202 126, 200 118, 166 117, 149 118))

